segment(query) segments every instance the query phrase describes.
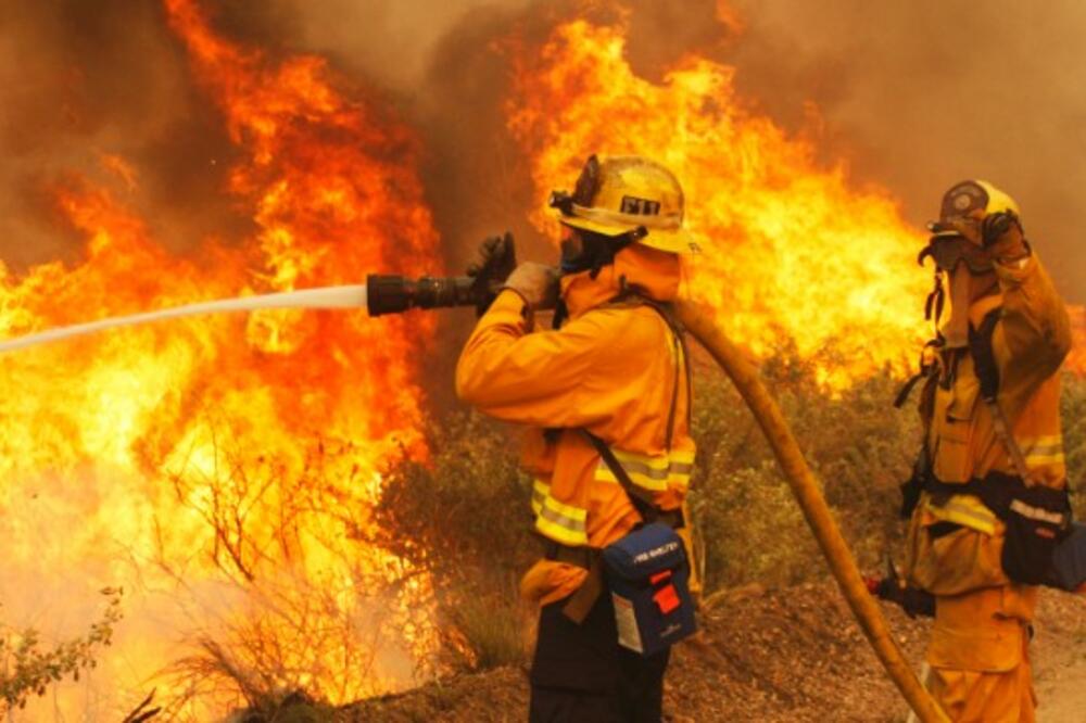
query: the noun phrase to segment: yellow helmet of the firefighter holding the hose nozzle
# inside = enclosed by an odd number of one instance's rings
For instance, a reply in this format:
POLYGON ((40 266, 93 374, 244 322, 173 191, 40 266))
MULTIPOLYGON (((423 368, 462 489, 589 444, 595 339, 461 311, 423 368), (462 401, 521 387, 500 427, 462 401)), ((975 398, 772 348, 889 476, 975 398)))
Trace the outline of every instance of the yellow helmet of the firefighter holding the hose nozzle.
POLYGON ((641 156, 591 156, 573 193, 555 191, 551 207, 566 226, 604 236, 632 234, 669 253, 697 250, 683 229, 683 193, 670 170, 641 156))

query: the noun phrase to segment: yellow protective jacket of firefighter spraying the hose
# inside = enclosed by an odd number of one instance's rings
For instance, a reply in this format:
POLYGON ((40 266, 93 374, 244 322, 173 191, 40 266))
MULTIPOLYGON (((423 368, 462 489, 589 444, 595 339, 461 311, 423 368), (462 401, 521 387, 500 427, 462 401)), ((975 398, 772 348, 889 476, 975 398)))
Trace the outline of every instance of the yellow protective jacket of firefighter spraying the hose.
MULTIPOLYGON (((487 415, 531 428, 521 465, 534 479, 532 511, 542 536, 602 548, 640 521, 579 428, 607 443, 657 507, 681 507, 694 462, 686 359, 657 310, 635 297, 615 301, 622 280, 652 300, 673 300, 680 275, 678 256, 629 246, 595 279, 586 271, 563 278, 569 319, 559 330, 530 333, 523 301, 505 291, 468 339, 456 393, 487 415)), ((543 560, 521 591, 546 604, 571 594, 584 575, 543 560)))

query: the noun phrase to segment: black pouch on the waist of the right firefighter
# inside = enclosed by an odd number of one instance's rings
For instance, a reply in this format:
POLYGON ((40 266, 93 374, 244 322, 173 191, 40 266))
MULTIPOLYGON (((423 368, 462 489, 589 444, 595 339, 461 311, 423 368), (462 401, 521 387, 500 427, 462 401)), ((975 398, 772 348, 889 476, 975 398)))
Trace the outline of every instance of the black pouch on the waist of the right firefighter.
POLYGON ((1069 532, 1065 492, 1031 487, 1014 495, 1001 516, 1007 525, 1002 567, 1007 576, 1026 585, 1051 582, 1052 556, 1069 532))

